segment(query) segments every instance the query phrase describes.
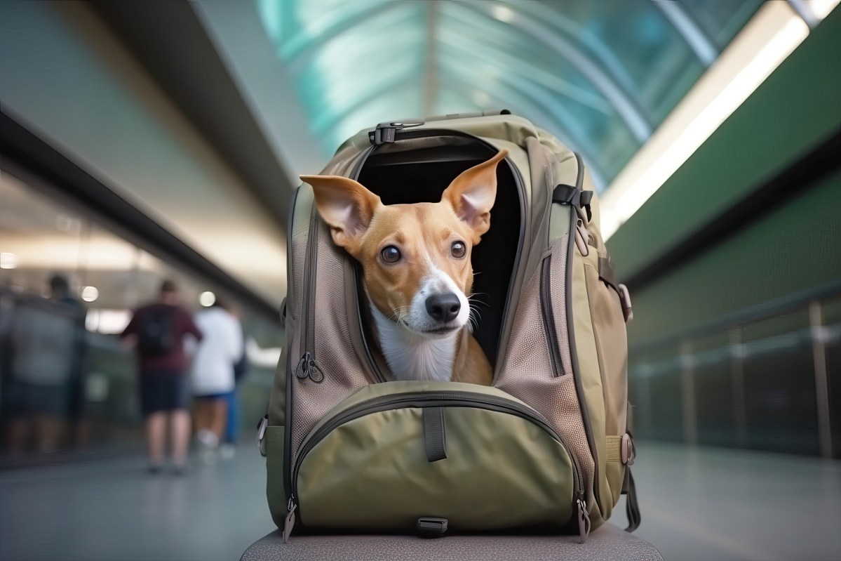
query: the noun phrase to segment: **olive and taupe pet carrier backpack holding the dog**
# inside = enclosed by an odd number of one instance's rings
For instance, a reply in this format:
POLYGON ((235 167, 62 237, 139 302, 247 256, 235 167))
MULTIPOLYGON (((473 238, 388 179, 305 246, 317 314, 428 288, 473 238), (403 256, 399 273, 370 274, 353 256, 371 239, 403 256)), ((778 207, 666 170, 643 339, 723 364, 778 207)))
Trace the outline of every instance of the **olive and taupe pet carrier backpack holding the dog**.
POLYGON ((438 535, 535 529, 587 537, 627 493, 627 289, 616 283, 581 158, 496 114, 383 123, 324 169, 383 204, 436 202, 508 148, 489 232, 473 248, 473 330, 491 387, 387 381, 368 348, 360 267, 331 240, 312 188, 288 224, 285 344, 258 428, 272 519, 293 529, 438 535))

